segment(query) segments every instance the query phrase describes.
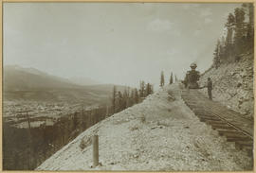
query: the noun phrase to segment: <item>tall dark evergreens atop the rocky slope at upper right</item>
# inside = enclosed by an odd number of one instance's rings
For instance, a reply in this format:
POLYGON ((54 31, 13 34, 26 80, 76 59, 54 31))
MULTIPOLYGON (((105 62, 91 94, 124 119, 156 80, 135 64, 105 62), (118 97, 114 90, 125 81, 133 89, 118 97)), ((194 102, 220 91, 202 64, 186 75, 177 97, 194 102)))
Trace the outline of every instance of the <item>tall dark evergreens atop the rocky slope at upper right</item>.
POLYGON ((239 61, 240 55, 253 51, 254 23, 253 4, 243 4, 241 8, 229 13, 226 23, 226 37, 218 40, 213 52, 213 67, 220 64, 239 61))

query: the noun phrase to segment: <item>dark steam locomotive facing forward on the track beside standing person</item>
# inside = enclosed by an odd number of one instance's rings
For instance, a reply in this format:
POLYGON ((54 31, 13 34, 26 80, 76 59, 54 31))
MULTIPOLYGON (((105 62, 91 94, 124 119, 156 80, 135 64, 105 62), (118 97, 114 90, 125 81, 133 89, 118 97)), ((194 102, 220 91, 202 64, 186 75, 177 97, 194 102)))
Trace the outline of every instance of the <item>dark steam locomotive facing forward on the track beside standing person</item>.
POLYGON ((196 67, 197 67, 197 65, 195 63, 192 63, 191 64, 192 70, 187 72, 186 77, 183 80, 183 83, 186 88, 199 89, 198 80, 200 78, 200 73, 199 73, 199 71, 195 70, 196 67))

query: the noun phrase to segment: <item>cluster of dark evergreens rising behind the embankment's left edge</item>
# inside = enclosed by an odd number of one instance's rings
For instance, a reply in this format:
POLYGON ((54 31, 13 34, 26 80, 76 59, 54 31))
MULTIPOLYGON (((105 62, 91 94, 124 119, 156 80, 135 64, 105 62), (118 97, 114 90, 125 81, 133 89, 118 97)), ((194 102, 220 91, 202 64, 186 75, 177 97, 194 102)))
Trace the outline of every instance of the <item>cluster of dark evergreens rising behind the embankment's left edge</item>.
POLYGON ((117 86, 113 88, 112 101, 112 112, 120 112, 129 108, 139 102, 148 95, 154 93, 153 85, 151 83, 145 83, 141 80, 139 82, 139 89, 137 88, 125 88, 123 93, 117 91, 117 86))

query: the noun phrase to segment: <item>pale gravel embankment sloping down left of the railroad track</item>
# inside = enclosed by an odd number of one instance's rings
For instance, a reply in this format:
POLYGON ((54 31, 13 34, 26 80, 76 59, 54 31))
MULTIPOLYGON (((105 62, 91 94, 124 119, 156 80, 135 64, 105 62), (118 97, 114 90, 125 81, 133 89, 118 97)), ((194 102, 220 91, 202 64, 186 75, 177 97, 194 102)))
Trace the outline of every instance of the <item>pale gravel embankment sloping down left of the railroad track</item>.
POLYGON ((200 122, 174 83, 85 130, 37 170, 235 171, 251 166, 247 152, 200 122), (101 164, 92 168, 94 134, 101 164))

